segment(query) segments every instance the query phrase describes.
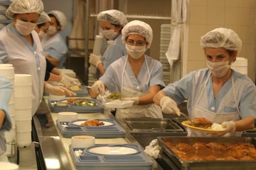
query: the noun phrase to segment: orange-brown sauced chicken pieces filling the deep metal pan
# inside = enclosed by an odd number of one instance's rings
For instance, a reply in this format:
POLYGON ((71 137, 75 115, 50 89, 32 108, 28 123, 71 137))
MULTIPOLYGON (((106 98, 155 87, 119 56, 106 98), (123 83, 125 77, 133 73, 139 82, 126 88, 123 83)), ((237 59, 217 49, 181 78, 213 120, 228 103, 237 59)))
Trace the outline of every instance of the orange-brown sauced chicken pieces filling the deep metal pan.
POLYGON ((171 143, 166 145, 181 159, 190 161, 255 160, 256 147, 251 143, 171 143))

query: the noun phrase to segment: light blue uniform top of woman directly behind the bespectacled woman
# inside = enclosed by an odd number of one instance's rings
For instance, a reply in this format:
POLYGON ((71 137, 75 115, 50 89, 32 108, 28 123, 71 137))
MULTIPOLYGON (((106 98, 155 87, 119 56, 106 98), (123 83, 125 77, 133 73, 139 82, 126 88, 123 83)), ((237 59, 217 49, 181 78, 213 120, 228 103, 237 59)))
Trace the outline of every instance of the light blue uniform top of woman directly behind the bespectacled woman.
POLYGON ((108 69, 108 66, 112 62, 127 54, 126 46, 122 43, 121 38, 122 35, 118 35, 113 43, 108 46, 103 56, 101 56, 101 61, 104 64, 105 70, 108 69))

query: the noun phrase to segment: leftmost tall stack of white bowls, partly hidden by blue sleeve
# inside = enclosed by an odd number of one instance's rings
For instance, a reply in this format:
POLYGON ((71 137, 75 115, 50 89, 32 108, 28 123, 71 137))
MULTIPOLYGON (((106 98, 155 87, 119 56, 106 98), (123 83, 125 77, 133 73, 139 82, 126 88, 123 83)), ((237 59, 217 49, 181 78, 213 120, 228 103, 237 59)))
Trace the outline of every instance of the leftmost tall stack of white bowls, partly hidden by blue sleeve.
POLYGON ((12 96, 9 101, 9 114, 11 117, 12 121, 12 129, 10 131, 5 132, 5 137, 6 137, 6 155, 11 156, 14 155, 14 146, 16 140, 16 132, 15 132, 15 97, 14 97, 14 67, 12 64, 0 64, 0 75, 6 77, 12 82, 12 96))

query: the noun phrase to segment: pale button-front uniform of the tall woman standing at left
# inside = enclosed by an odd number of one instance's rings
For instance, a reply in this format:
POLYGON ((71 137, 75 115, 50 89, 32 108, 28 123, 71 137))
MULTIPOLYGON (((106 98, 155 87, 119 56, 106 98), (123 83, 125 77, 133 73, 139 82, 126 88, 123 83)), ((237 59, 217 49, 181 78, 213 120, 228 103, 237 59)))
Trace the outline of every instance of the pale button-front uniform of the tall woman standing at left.
POLYGON ((45 83, 46 60, 38 34, 32 31, 33 46, 11 24, 0 30, 0 63, 9 63, 15 74, 32 75, 32 115, 36 113, 45 83))

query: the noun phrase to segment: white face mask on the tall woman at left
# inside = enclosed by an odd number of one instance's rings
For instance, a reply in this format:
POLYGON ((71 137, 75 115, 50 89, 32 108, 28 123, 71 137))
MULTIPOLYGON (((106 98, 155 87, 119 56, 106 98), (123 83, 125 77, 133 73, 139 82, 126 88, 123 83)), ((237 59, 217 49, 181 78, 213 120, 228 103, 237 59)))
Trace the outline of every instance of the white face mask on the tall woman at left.
POLYGON ((29 35, 36 27, 36 23, 16 20, 15 28, 21 35, 29 35))

